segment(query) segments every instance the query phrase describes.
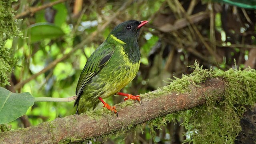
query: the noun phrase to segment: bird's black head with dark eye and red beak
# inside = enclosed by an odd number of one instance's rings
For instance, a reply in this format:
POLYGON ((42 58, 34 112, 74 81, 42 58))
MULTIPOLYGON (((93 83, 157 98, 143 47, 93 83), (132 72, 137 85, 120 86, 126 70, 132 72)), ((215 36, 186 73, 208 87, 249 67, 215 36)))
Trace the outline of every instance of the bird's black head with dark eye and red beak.
POLYGON ((138 42, 139 31, 148 21, 128 20, 116 26, 110 34, 122 40, 126 44, 138 42))

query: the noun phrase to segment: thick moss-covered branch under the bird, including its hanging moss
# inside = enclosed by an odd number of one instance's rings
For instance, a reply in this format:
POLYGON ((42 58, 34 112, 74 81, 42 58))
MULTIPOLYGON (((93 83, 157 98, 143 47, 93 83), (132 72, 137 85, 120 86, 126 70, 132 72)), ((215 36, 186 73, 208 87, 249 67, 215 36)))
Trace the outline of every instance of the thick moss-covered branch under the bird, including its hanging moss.
POLYGON ((190 132, 185 142, 234 143, 241 131, 240 118, 246 105, 256 103, 254 69, 203 70, 195 63, 194 72, 176 78, 170 85, 140 95, 142 105, 133 101, 116 105, 116 117, 106 108, 81 115, 56 118, 38 126, 0 133, 0 142, 72 143, 91 140, 149 121, 161 126, 166 121, 183 119, 190 132), (189 110, 188 110, 189 109, 189 110), (186 111, 185 111, 186 110, 186 111))

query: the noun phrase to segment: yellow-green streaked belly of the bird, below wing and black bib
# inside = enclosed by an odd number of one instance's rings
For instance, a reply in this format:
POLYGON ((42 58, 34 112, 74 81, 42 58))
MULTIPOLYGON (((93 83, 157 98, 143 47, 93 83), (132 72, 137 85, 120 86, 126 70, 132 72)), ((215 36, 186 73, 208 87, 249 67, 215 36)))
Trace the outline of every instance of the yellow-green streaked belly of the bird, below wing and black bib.
POLYGON ((92 78, 88 89, 92 98, 107 98, 119 92, 124 86, 129 84, 140 67, 140 61, 132 64, 126 61, 108 62, 108 64, 92 78), (108 65, 109 64, 109 65, 108 65))

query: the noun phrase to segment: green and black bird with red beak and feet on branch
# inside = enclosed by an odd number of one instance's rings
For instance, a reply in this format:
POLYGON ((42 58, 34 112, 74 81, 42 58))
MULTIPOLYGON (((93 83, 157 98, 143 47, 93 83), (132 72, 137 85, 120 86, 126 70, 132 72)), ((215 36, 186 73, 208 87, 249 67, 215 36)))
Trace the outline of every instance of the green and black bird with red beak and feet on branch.
POLYGON ((118 24, 106 40, 88 58, 76 86, 76 114, 94 110, 102 102, 103 107, 118 116, 115 106, 104 102, 114 94, 126 96, 141 104, 139 95, 120 92, 137 75, 140 68, 138 37, 147 20, 128 20, 118 24))

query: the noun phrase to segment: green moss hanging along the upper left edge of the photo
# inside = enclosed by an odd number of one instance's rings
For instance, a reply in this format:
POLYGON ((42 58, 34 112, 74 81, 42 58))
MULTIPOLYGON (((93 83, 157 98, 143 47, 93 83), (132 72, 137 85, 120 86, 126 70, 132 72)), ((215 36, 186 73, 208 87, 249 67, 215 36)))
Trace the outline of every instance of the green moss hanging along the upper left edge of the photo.
POLYGON ((12 2, 17 0, 0 1, 0 86, 9 84, 8 75, 17 60, 13 58, 13 49, 5 48, 6 40, 21 36, 14 18, 12 2))

